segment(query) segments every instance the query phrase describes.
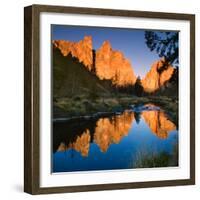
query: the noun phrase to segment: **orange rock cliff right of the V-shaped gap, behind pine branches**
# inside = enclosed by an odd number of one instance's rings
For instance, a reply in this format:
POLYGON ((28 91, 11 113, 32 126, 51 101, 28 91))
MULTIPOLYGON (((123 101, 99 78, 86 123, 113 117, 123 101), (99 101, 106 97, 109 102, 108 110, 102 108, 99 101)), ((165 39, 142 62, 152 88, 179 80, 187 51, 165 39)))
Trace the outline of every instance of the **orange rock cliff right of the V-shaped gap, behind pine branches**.
POLYGON ((174 68, 166 65, 165 60, 156 61, 150 71, 142 80, 142 86, 146 92, 154 92, 162 87, 172 77, 174 68))

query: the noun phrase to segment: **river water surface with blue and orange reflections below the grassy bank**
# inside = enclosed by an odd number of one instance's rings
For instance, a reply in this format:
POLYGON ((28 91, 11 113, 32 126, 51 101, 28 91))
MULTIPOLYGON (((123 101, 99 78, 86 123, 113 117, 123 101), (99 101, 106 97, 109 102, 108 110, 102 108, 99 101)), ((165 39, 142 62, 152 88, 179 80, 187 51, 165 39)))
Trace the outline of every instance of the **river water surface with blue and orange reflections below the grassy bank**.
POLYGON ((145 111, 139 120, 131 112, 92 122, 56 122, 52 172, 131 169, 143 155, 171 155, 178 130, 160 112, 145 111))

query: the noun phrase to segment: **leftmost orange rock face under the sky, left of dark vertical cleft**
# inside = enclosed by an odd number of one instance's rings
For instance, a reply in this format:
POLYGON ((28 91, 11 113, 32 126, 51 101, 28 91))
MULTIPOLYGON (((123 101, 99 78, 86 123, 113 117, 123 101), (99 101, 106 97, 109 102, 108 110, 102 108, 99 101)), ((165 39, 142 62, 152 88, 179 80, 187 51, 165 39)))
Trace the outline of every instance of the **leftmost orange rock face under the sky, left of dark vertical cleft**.
POLYGON ((89 71, 92 70, 93 53, 91 36, 85 36, 83 40, 80 40, 79 42, 54 40, 53 45, 55 48, 60 49, 64 56, 71 53, 71 55, 78 58, 79 62, 82 62, 89 71))

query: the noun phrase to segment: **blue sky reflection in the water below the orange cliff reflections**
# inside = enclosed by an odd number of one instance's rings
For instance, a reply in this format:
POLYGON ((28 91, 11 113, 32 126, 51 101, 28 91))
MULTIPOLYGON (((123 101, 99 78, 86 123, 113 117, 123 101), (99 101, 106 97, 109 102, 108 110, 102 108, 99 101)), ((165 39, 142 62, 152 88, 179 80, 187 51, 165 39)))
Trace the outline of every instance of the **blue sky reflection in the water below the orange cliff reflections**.
MULTIPOLYGON (((160 121, 162 122, 162 120, 160 121)), ((167 122, 162 123, 168 128, 169 123, 172 122, 169 121, 168 124, 167 122)), ((163 124, 160 126, 162 127, 163 124)), ((124 134, 118 144, 110 143, 105 152, 102 152, 100 146, 94 141, 90 143, 87 156, 82 156, 73 148, 55 152, 53 154, 53 172, 132 168, 138 153, 154 154, 163 151, 171 153, 177 140, 177 130, 170 130, 166 138, 159 138, 152 133, 147 120, 143 117, 139 123, 133 119, 130 121, 128 135, 124 134)))

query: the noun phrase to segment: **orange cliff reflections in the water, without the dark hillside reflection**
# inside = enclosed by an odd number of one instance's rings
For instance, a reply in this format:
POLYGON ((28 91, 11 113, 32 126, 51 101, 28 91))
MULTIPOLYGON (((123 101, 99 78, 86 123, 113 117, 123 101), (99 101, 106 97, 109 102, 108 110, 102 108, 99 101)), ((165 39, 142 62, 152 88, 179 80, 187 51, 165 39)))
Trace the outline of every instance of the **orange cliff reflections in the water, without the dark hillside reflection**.
POLYGON ((80 152, 82 156, 88 156, 90 142, 95 142, 102 152, 106 152, 111 144, 118 144, 124 136, 128 135, 135 121, 135 116, 137 116, 136 122, 139 123, 138 114, 145 120, 151 132, 161 139, 166 139, 169 132, 176 129, 175 124, 169 120, 163 111, 151 110, 141 113, 125 111, 120 115, 98 119, 94 123, 94 133, 90 133, 90 130, 86 128, 80 135, 77 135, 74 141, 72 138, 72 141, 69 141, 68 144, 61 142, 57 151, 74 149, 80 152), (93 141, 91 141, 91 134, 93 141))

